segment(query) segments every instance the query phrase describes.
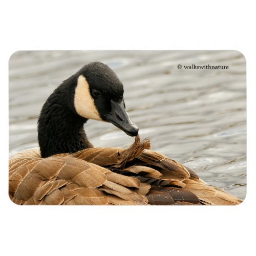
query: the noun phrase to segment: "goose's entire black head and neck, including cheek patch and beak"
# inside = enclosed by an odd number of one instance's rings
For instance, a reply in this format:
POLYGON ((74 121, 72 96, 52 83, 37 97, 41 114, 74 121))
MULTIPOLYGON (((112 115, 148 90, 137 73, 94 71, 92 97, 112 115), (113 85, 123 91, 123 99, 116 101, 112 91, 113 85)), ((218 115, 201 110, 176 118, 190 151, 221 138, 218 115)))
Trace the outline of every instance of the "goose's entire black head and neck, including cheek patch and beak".
POLYGON ((37 122, 41 157, 92 147, 84 131, 88 119, 111 122, 127 135, 138 135, 125 111, 123 84, 100 62, 83 66, 63 81, 42 106, 37 122))

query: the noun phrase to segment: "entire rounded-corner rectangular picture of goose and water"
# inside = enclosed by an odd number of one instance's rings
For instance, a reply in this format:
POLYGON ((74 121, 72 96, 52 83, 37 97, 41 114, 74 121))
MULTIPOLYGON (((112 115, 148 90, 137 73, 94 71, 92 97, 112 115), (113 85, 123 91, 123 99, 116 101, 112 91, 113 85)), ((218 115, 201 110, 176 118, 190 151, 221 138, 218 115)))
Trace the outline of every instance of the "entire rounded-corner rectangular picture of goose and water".
POLYGON ((14 52, 9 197, 18 205, 239 205, 243 53, 14 52))

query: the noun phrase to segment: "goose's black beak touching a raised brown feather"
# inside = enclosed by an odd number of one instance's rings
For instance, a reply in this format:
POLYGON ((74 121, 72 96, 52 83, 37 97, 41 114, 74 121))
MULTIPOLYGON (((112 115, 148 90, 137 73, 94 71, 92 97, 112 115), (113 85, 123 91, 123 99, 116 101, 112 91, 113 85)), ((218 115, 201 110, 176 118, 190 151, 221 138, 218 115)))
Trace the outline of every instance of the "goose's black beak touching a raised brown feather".
POLYGON ((123 102, 118 103, 111 100, 111 111, 104 115, 105 120, 113 123, 127 135, 137 136, 139 129, 135 125, 124 109, 123 102))

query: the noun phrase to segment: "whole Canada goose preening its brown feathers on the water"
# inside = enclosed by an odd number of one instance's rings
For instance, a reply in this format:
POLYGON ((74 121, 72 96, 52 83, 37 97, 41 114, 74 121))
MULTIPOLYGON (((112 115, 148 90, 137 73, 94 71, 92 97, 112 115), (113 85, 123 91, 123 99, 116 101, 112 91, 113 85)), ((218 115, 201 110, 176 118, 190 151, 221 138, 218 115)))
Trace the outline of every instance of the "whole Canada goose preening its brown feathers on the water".
POLYGON ((151 151, 125 111, 123 85, 100 62, 63 81, 42 106, 39 148, 9 160, 9 195, 16 204, 236 205, 242 202, 202 181, 193 170, 151 151), (127 149, 93 147, 88 119, 111 122, 136 136, 127 149))

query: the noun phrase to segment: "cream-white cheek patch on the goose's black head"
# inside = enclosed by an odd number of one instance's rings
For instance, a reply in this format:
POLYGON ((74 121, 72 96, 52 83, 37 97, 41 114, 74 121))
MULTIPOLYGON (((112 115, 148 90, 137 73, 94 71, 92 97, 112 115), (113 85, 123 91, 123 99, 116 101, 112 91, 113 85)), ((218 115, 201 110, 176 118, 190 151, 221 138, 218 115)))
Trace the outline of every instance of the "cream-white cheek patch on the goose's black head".
POLYGON ((74 105, 78 115, 88 119, 103 121, 99 116, 99 112, 90 94, 89 84, 82 75, 80 75, 77 80, 74 105))

